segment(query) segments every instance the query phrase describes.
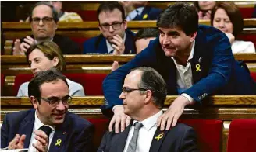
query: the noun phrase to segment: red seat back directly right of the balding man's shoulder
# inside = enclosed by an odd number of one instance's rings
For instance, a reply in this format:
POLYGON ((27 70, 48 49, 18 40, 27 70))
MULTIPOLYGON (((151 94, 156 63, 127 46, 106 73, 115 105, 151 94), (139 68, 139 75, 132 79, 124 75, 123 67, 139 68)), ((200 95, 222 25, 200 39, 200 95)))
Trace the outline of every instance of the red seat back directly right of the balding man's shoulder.
POLYGON ((221 150, 222 121, 211 119, 180 119, 197 132, 201 152, 218 152, 221 150))

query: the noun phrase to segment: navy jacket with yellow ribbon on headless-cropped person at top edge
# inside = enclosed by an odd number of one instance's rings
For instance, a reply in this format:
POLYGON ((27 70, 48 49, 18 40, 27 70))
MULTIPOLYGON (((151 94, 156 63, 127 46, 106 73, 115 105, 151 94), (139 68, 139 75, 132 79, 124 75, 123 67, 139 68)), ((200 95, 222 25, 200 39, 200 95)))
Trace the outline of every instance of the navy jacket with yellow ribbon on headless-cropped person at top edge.
POLYGON ((145 6, 140 15, 137 15, 133 21, 141 20, 157 20, 158 16, 161 14, 162 9, 152 8, 150 6, 145 6))

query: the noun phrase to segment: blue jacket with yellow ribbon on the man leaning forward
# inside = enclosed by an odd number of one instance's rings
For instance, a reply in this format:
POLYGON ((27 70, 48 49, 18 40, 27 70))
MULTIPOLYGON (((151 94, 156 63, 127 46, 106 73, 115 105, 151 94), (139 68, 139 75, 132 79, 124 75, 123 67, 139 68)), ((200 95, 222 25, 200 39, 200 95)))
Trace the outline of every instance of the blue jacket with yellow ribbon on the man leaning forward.
MULTIPOLYGON (((103 81, 105 105, 101 110, 122 105, 119 99, 126 74, 135 67, 153 67, 164 78, 168 95, 178 95, 176 66, 171 57, 166 57, 159 38, 151 40, 148 47, 133 60, 113 71, 103 81)), ((256 85, 246 68, 241 67, 232 54, 229 39, 212 26, 199 26, 195 39, 194 57, 191 61, 192 85, 182 93, 201 102, 208 95, 256 95, 256 85), (200 67, 198 69, 197 67, 200 67), (200 70, 200 71, 199 71, 200 70)), ((107 110, 112 112, 112 110, 107 110)))

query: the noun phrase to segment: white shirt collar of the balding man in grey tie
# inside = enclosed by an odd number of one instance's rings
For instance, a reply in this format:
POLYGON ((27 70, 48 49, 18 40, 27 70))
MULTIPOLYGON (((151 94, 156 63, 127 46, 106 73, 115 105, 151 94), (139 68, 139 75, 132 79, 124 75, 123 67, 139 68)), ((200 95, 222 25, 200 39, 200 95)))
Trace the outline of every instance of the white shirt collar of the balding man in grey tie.
MULTIPOLYGON (((162 110, 160 110, 159 112, 157 112, 155 115, 148 117, 147 119, 144 119, 142 122, 143 126, 145 127, 146 130, 151 130, 151 128, 153 126, 156 125, 158 117, 161 116, 163 114, 162 110)), ((134 123, 138 122, 137 120, 133 121, 133 125, 134 123)))

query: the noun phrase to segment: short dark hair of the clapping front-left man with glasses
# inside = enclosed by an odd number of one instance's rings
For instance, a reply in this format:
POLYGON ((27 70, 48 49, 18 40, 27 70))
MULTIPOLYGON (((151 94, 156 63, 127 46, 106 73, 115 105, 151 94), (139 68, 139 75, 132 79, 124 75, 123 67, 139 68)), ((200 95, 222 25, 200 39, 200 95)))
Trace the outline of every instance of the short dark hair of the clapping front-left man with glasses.
POLYGON ((40 71, 38 74, 32 78, 30 83, 28 84, 28 96, 34 96, 37 98, 38 102, 40 103, 41 98, 41 85, 47 82, 62 80, 66 83, 69 88, 69 85, 66 81, 66 77, 55 68, 52 68, 47 71, 40 71))

